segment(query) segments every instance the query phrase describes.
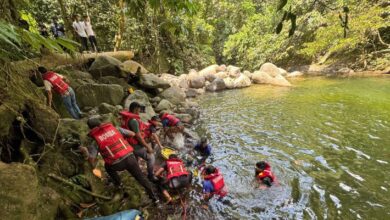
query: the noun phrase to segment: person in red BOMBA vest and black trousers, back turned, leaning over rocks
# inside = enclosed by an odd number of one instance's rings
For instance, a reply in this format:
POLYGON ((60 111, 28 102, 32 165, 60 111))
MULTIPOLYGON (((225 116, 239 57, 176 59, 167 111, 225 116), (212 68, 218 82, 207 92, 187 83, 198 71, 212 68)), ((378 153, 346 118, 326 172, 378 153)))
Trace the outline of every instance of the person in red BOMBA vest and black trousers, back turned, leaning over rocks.
MULTIPOLYGON (((144 187, 149 198, 158 202, 158 197, 152 190, 152 184, 138 165, 133 154, 133 147, 124 139, 120 131, 111 123, 102 123, 99 117, 88 119, 87 124, 91 129, 88 135, 96 143, 88 148, 91 165, 96 166, 96 156, 99 152, 104 159, 104 167, 116 186, 121 186, 121 179, 117 172, 127 170, 144 187)), ((120 130, 126 136, 134 135, 128 130, 120 130)))

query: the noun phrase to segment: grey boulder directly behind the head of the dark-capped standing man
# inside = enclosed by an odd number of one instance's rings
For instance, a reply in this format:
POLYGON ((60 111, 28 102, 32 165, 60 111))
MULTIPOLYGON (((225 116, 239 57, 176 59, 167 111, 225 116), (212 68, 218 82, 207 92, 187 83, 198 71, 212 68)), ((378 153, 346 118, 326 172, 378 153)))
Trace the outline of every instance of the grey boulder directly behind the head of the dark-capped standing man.
POLYGON ((140 117, 143 121, 149 120, 151 117, 156 115, 152 104, 149 102, 148 95, 141 90, 135 90, 134 93, 130 94, 123 103, 123 108, 128 110, 129 106, 133 102, 138 102, 145 106, 145 113, 141 113, 140 117))

